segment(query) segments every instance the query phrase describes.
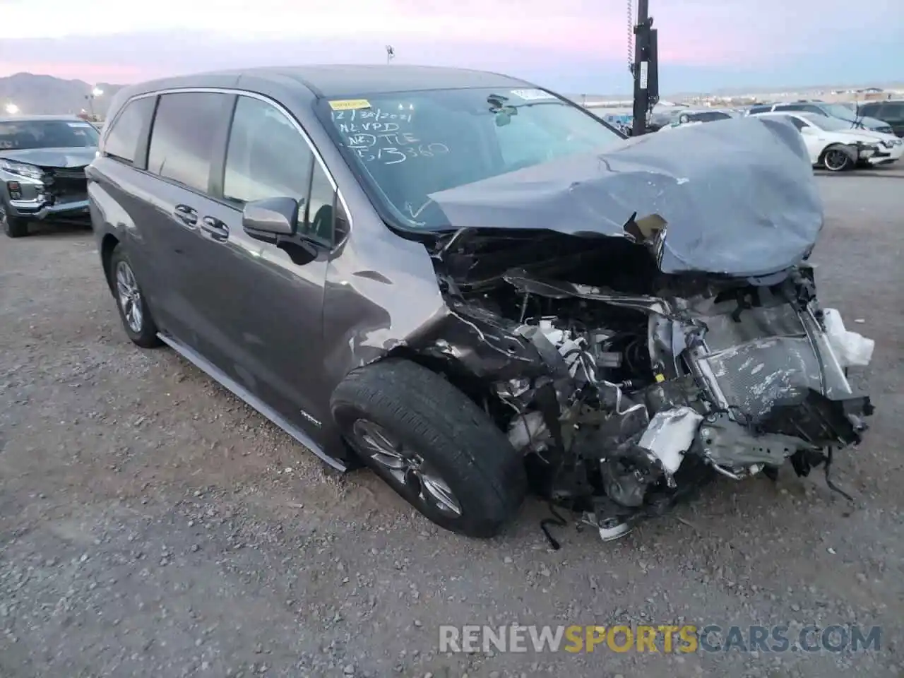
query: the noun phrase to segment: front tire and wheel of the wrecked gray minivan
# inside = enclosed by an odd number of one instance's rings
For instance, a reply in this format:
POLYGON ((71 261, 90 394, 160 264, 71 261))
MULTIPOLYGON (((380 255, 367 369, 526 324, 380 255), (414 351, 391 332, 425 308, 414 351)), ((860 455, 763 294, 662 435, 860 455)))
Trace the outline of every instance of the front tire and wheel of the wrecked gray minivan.
POLYGON ((518 512, 522 456, 437 373, 399 359, 368 365, 336 387, 331 410, 363 463, 440 527, 493 537, 518 512))

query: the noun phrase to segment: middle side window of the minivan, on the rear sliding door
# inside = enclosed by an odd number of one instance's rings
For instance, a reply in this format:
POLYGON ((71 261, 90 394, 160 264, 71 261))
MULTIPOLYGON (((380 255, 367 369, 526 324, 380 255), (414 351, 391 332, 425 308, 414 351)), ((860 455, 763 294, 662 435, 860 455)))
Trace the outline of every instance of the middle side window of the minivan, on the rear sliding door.
POLYGON ((229 97, 215 92, 164 94, 157 105, 147 170, 207 192, 217 130, 229 97))

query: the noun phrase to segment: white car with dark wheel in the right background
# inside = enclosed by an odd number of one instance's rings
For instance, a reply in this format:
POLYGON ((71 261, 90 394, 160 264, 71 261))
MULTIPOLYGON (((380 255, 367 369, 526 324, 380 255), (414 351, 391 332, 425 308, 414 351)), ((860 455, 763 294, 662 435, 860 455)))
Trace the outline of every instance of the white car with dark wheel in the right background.
POLYGON ((810 162, 830 172, 843 172, 856 165, 888 165, 904 155, 904 143, 892 134, 870 129, 852 129, 838 118, 815 113, 753 113, 758 118, 786 118, 800 130, 810 152, 810 162))

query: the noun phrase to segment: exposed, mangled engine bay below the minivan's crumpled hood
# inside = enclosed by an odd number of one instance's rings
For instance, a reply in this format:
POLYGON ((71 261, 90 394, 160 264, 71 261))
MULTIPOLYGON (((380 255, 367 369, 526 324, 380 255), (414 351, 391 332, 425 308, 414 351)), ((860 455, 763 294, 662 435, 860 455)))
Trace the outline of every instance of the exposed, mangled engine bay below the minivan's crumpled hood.
POLYGON ((716 476, 824 465, 834 488, 872 412, 847 368, 873 344, 819 305, 808 264, 669 275, 630 239, 462 235, 438 267, 457 330, 431 351, 491 384, 536 494, 608 540, 716 476))

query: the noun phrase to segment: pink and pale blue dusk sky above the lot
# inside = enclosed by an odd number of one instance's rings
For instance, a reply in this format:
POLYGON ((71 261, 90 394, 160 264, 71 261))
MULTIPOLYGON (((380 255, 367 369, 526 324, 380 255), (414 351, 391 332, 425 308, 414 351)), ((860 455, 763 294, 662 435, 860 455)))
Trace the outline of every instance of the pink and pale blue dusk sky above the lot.
MULTIPOLYGON (((904 80, 904 0, 649 0, 664 93, 904 80)), ((0 0, 0 76, 385 61, 627 92, 626 0, 0 0)))

